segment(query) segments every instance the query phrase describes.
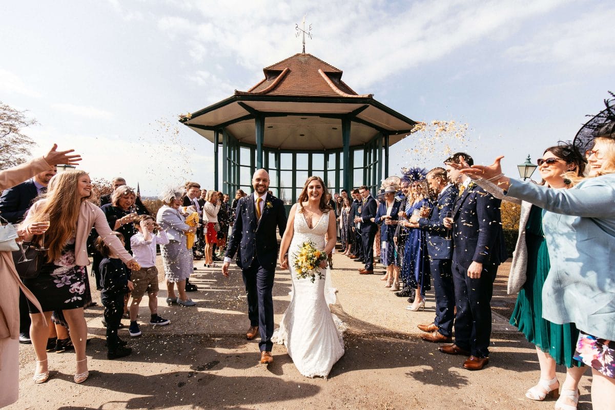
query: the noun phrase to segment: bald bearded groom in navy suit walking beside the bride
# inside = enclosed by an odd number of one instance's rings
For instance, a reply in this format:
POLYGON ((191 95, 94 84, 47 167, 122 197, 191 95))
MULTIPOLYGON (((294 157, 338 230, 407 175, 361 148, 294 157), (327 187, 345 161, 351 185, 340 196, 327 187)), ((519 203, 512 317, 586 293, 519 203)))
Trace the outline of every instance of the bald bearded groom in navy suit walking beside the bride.
POLYGON ((273 278, 277 260, 277 232, 284 234, 286 211, 284 203, 268 194, 269 174, 261 169, 252 176, 252 195, 237 202, 235 224, 232 227, 222 273, 229 275, 229 264, 237 252, 237 266, 244 275, 245 292, 248 297, 250 329, 245 336, 254 339, 260 331, 261 363, 273 362, 273 278))

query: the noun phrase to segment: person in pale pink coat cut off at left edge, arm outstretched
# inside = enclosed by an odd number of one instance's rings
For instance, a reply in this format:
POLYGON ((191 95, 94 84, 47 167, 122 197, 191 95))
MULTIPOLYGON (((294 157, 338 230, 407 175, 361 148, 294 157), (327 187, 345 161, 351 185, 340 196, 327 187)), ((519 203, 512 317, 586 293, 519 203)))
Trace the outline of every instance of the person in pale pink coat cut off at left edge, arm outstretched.
MULTIPOLYGON (((58 164, 77 165, 81 157, 70 154, 74 150, 56 151, 54 144, 47 154, 41 158, 33 159, 25 164, 17 165, 7 170, 0 171, 0 189, 14 187, 32 176, 51 170, 58 164)), ((23 237, 23 231, 17 234, 23 237)), ((19 395, 19 304, 15 300, 17 291, 23 291, 26 298, 31 299, 33 304, 40 307, 30 290, 23 286, 12 254, 9 251, 0 252, 0 407, 8 406, 17 401, 19 395)))

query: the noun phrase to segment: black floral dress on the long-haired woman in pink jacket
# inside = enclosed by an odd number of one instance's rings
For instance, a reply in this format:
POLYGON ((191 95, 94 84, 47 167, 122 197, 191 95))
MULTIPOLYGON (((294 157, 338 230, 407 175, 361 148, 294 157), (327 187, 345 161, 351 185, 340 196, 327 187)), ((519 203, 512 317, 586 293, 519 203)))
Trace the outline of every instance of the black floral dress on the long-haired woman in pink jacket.
MULTIPOLYGON (((25 280, 25 285, 41 303, 43 312, 76 309, 85 304, 87 272, 85 266, 75 264, 74 241, 74 238, 68 241, 60 258, 44 262, 38 277, 25 280)), ((39 313, 30 302, 28 307, 30 313, 39 313)))

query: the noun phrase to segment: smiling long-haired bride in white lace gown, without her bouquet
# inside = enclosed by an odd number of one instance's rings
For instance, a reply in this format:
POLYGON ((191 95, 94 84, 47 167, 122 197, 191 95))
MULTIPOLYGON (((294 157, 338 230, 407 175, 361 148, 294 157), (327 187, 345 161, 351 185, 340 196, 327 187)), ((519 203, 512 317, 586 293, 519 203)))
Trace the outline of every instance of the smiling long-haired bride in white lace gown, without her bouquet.
MULTIPOLYGON (((336 218, 327 205, 326 194, 327 188, 319 176, 308 178, 298 202, 290 210, 280 245, 280 267, 290 269, 293 289, 290 305, 272 340, 286 346, 296 368, 307 377, 327 377, 344 355, 341 329, 336 325, 341 321, 329 310, 329 304, 335 303, 330 271, 325 271, 324 280, 317 278, 312 283, 310 278, 298 279, 294 268, 295 254, 303 242, 312 241, 327 254, 333 251, 336 218)), ((323 261, 321 273, 326 266, 327 261, 323 261)))

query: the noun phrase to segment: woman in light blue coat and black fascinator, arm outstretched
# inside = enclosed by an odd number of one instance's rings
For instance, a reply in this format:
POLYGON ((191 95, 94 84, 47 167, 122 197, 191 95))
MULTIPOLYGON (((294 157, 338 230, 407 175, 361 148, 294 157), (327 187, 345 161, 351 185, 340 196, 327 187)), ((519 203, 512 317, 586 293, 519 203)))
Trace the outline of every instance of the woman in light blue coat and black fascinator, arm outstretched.
MULTIPOLYGON (((614 96, 615 97, 615 96, 614 96)), ((615 397, 615 99, 574 138, 586 152, 589 175, 572 189, 547 189, 507 178, 496 158, 461 171, 489 179, 506 195, 546 210, 542 226, 551 267, 544 283, 542 317, 574 323, 581 331, 574 358, 592 367, 592 406, 612 409, 615 397)), ((574 405, 578 391, 563 390, 574 405)))

